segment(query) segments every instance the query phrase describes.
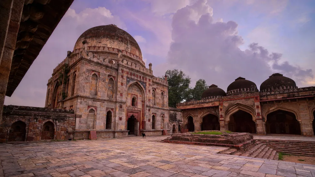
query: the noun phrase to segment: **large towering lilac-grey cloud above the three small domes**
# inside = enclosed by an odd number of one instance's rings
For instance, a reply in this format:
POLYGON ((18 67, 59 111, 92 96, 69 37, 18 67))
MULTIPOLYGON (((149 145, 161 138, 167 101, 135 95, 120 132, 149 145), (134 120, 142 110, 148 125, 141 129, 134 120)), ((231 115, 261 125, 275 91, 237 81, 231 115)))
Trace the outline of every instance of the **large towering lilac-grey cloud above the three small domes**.
POLYGON ((311 69, 281 63, 282 54, 271 53, 258 43, 241 50, 244 42, 237 27, 234 21, 214 21, 206 0, 178 10, 172 20, 173 42, 166 65, 182 69, 193 81, 202 78, 222 89, 237 77, 245 77, 259 88, 275 71, 297 82, 313 77, 311 69))

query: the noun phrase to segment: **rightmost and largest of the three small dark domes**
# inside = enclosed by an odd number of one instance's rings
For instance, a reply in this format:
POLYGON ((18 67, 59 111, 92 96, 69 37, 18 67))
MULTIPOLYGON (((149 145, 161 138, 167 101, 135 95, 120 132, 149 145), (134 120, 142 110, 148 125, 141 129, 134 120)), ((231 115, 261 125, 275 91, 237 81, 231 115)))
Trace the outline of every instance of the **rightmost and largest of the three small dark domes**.
POLYGON ((284 77, 282 74, 274 73, 260 85, 261 91, 280 90, 283 88, 297 88, 294 80, 284 77), (280 88, 281 87, 281 88, 280 88))

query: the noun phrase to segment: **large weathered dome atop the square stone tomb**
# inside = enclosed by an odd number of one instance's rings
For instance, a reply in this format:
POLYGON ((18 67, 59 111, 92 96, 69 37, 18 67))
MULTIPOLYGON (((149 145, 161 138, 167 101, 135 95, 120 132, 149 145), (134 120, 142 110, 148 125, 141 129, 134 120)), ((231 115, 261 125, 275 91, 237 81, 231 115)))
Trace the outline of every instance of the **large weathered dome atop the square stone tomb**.
POLYGON ((137 55, 142 60, 142 54, 137 41, 126 31, 116 25, 95 26, 83 32, 77 39, 74 49, 83 47, 83 41, 88 42, 88 46, 111 47, 125 50, 137 55))

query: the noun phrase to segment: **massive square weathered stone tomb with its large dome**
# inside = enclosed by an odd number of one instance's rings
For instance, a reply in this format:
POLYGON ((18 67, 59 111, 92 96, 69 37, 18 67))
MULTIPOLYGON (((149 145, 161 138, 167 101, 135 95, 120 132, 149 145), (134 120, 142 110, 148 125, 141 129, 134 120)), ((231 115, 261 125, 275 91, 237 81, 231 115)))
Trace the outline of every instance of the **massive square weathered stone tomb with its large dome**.
POLYGON ((167 78, 153 76, 135 39, 115 25, 85 31, 47 86, 45 107, 74 110, 75 139, 91 130, 100 138, 172 133, 167 78))

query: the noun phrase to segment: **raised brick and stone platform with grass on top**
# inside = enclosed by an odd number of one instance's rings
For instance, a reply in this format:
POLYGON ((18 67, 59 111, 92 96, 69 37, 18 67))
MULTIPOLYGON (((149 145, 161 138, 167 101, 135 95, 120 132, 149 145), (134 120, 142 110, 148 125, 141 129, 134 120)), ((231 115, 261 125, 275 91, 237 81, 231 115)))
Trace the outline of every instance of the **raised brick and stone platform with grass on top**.
POLYGON ((255 139, 253 139, 253 135, 250 133, 221 133, 222 134, 218 135, 192 134, 191 132, 173 134, 171 137, 163 140, 163 142, 202 146, 224 146, 235 148, 240 152, 245 152, 255 146, 255 139))

